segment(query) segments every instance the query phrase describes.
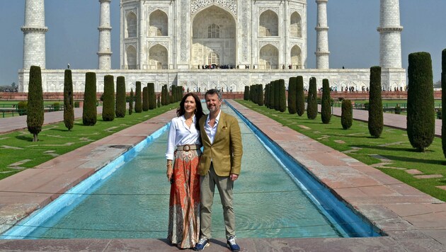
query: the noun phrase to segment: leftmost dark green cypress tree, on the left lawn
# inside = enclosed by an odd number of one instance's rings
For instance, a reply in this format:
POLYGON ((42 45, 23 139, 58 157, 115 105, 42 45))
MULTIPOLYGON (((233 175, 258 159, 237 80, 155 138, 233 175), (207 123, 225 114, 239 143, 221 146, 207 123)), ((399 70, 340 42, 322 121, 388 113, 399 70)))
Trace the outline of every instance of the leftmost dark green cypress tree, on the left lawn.
POLYGON ((42 73, 40 67, 30 67, 30 82, 28 85, 28 111, 26 125, 33 134, 33 142, 38 142, 38 134, 42 131, 43 115, 42 73))

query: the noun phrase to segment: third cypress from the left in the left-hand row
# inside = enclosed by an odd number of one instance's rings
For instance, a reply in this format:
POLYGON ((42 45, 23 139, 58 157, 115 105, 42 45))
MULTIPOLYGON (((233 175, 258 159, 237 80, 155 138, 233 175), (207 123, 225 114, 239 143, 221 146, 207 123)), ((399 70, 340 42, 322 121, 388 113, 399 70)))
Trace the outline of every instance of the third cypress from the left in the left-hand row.
POLYGON ((82 109, 82 123, 86 126, 96 125, 96 120, 98 120, 96 102, 96 73, 88 71, 85 74, 84 108, 82 109))

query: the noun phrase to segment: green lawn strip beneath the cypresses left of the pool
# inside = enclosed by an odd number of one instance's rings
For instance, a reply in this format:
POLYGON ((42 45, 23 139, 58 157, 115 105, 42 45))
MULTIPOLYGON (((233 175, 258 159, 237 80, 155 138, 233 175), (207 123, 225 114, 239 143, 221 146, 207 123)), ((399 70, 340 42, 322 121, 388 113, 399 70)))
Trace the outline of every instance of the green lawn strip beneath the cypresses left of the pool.
POLYGON ((75 120, 71 131, 67 130, 64 122, 45 125, 38 135, 39 142, 32 142, 33 134, 28 130, 0 134, 0 179, 23 171, 24 168, 38 166, 55 156, 74 151, 168 110, 178 108, 178 104, 172 103, 147 112, 127 114, 125 118, 115 118, 111 122, 103 121, 102 116, 98 115, 98 121, 94 126, 82 125, 82 118, 79 118, 75 120))

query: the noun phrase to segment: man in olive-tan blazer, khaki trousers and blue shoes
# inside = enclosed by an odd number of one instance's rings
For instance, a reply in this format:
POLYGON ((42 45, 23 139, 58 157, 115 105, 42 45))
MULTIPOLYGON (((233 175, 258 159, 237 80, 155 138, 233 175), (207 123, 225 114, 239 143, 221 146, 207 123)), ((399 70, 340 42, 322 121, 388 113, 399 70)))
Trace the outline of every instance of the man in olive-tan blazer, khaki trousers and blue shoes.
POLYGON ((240 251, 236 244, 235 214, 232 208, 232 188, 241 169, 241 133, 239 122, 220 109, 222 93, 210 89, 205 93, 209 115, 200 119, 200 135, 204 147, 198 173, 200 173, 201 228, 196 251, 209 246, 211 238, 211 212, 215 185, 222 200, 227 246, 240 251))

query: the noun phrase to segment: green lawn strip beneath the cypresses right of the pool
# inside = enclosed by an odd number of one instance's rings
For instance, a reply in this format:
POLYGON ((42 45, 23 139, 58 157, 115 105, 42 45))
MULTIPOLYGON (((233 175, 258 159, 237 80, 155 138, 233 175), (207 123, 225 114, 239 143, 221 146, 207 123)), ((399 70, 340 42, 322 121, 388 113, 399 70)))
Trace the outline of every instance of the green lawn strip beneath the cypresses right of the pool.
POLYGON ((349 130, 343 130, 341 118, 336 116, 332 116, 331 122, 325 125, 321 122, 320 114, 316 120, 309 120, 306 114, 299 117, 296 114, 290 115, 287 111, 280 113, 270 110, 251 101, 236 101, 328 147, 343 151, 364 164, 376 166, 383 162, 378 157, 385 157, 390 160, 389 164, 375 168, 439 200, 446 201, 446 190, 437 188, 446 185, 446 159, 442 152, 440 137, 435 137, 433 144, 426 151, 417 152, 411 147, 405 130, 384 127, 381 137, 373 138, 370 137, 367 122, 355 120, 349 130), (443 177, 416 178, 406 172, 409 169, 421 171, 423 175, 440 174, 443 177))

